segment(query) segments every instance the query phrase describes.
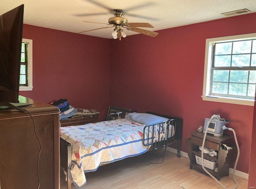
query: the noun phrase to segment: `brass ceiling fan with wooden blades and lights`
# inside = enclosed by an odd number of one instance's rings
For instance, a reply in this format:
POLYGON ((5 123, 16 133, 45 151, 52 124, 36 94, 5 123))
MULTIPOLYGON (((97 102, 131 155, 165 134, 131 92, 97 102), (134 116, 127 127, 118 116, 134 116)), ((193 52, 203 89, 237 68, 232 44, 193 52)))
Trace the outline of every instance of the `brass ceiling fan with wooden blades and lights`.
MULTIPOLYGON (((144 35, 149 35, 151 37, 155 37, 158 35, 157 32, 152 32, 149 30, 144 30, 142 28, 154 28, 151 24, 149 23, 140 23, 140 22, 128 22, 126 18, 124 18, 124 12, 121 9, 115 9, 114 10, 114 17, 111 17, 108 19, 108 24, 110 25, 108 27, 102 27, 102 28, 97 28, 93 30, 100 30, 100 29, 106 29, 106 28, 114 28, 114 32, 112 32, 112 36, 114 39, 119 38, 121 40, 121 37, 126 37, 126 34, 124 33, 123 28, 126 28, 127 30, 133 31, 133 32, 138 32, 142 33, 144 35), (138 28, 142 27, 142 28, 138 28)), ((84 21, 86 22, 86 21, 84 21)), ((105 23, 98 23, 98 22, 88 22, 88 23, 96 23, 96 24, 105 24, 105 23)), ((84 32, 90 32, 93 30, 86 30, 83 32, 79 33, 84 33, 84 32)))

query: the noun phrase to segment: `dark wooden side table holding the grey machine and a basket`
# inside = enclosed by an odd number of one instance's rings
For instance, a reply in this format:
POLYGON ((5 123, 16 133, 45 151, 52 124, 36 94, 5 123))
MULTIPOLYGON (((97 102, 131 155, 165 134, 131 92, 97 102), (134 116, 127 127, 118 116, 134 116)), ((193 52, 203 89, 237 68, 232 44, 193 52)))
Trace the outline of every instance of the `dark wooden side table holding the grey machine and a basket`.
MULTIPOLYGON (((199 146, 202 146, 204 133, 191 132, 191 138, 186 139, 186 145, 188 150, 188 156, 190 159, 190 169, 193 167, 199 171, 205 172, 202 165, 196 163, 196 156, 201 157, 201 151, 199 146)), ((204 159, 208 161, 217 162, 217 167, 214 170, 206 168, 216 179, 220 180, 220 177, 229 175, 229 166, 236 159, 237 148, 232 145, 232 136, 223 134, 223 136, 216 137, 212 134, 206 135, 204 147, 213 149, 217 152, 217 156, 210 156, 204 154, 204 159), (232 149, 225 150, 223 144, 231 146, 232 149)), ((201 161, 202 162, 202 161, 201 161)))

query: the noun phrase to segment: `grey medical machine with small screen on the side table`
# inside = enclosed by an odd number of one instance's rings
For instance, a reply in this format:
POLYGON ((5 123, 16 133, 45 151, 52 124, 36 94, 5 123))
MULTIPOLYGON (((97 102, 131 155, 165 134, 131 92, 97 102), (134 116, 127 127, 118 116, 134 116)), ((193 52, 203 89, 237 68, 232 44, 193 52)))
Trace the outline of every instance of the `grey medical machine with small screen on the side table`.
POLYGON ((204 133, 206 130, 206 127, 209 123, 207 133, 213 134, 214 136, 222 136, 223 134, 223 126, 228 124, 230 120, 220 120, 220 118, 214 118, 214 119, 209 119, 205 118, 204 120, 204 133), (209 123, 210 122, 210 123, 209 123))

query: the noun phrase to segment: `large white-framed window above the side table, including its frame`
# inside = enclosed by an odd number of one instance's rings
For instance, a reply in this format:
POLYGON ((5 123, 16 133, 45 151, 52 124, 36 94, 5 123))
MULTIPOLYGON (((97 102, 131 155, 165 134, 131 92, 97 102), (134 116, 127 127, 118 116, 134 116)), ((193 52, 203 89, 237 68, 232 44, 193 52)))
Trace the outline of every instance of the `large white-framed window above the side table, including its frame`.
POLYGON ((256 33, 206 39, 203 100, 254 105, 256 33))

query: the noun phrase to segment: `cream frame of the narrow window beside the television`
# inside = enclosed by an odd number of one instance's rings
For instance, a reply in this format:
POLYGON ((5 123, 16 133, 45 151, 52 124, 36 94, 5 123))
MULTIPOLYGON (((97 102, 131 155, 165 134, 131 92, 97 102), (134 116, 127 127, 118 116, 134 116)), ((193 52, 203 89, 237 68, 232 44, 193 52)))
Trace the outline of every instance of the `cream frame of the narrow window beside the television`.
MULTIPOLYGON (((28 56, 28 86, 20 86, 20 91, 32 91, 33 89, 33 74, 32 74, 32 68, 33 68, 33 40, 32 39, 24 39, 22 38, 22 42, 28 44, 28 49, 27 49, 27 56, 28 56)), ((21 53, 21 52, 20 52, 21 53)))

